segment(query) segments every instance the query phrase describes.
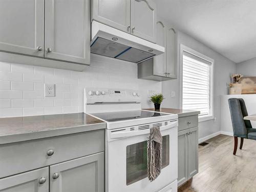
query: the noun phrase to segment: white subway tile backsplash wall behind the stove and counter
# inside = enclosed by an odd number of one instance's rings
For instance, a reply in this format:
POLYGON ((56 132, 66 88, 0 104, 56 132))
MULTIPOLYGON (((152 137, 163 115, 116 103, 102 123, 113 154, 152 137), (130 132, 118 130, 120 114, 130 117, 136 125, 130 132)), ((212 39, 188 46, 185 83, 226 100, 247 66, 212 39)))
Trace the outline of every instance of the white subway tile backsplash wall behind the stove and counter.
POLYGON ((154 106, 147 89, 161 92, 161 82, 137 79, 137 64, 96 55, 83 72, 0 62, 0 117, 83 112, 84 87, 138 89, 142 107, 154 106), (44 83, 56 84, 55 98, 44 83))

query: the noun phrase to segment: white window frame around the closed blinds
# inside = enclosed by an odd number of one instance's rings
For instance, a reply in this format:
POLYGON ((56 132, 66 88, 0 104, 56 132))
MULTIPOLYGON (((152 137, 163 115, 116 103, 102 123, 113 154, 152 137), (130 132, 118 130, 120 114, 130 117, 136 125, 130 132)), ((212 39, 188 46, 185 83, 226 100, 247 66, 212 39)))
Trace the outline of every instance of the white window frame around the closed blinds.
POLYGON ((180 108, 182 109, 182 100, 183 100, 183 52, 195 55, 199 58, 202 58, 211 63, 210 65, 210 110, 209 115, 199 116, 198 121, 204 122, 210 119, 214 119, 214 59, 211 59, 189 47, 180 44, 180 108))

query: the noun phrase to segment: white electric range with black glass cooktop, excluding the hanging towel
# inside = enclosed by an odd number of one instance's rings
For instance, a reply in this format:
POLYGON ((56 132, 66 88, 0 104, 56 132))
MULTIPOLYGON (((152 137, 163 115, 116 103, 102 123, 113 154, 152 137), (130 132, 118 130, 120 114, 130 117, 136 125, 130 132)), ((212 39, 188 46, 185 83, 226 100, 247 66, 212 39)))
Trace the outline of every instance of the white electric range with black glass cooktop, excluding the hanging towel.
POLYGON ((105 191, 177 191, 178 116, 141 110, 137 90, 86 88, 84 112, 106 122, 105 191), (150 128, 163 136, 162 171, 147 178, 147 140, 150 128))

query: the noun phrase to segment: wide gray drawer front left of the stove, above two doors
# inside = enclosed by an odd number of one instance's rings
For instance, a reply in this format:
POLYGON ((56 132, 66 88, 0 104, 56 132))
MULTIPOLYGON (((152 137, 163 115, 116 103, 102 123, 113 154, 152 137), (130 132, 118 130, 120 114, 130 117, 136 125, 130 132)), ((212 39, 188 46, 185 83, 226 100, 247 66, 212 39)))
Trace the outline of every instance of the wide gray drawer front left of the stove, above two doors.
POLYGON ((102 151, 104 130, 0 145, 0 178, 102 151))

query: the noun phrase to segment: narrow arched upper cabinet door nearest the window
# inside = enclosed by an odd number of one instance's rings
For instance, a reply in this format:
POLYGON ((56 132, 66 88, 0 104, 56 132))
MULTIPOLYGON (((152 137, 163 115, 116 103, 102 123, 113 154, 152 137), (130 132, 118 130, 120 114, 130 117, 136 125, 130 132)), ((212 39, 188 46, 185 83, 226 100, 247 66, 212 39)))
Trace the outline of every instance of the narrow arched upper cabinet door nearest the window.
POLYGON ((166 29, 166 73, 167 77, 177 78, 177 43, 176 31, 172 27, 166 29))

